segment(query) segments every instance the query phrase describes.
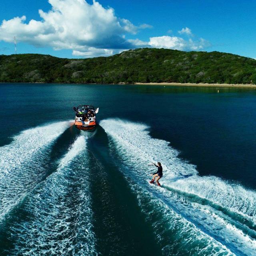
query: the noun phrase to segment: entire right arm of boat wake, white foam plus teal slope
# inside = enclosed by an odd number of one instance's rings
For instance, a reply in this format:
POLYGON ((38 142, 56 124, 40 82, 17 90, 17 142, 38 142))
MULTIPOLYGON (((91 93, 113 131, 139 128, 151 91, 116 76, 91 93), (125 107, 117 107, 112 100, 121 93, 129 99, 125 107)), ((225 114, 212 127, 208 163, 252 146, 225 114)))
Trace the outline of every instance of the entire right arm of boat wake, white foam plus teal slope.
MULTIPOLYGON (((132 187, 140 202, 146 197, 148 202, 154 202, 154 211, 148 214, 164 212, 162 221, 172 230, 179 228, 175 234, 179 238, 183 235, 190 243, 198 241, 198 246, 204 240, 205 248, 195 246, 191 251, 197 248, 202 255, 256 254, 255 191, 215 176, 199 176, 196 166, 178 158, 179 152, 168 142, 152 138, 144 124, 111 119, 102 120, 100 125, 110 138, 113 152, 126 166, 122 168, 124 175, 134 180, 132 187), (162 162, 162 188, 148 184, 149 161, 162 162)), ((141 208, 147 211, 145 202, 141 208)), ((156 230, 160 218, 157 219, 158 222, 151 220, 156 230)), ((156 235, 162 237, 163 248, 174 252, 175 245, 164 242, 168 235, 164 238, 163 234, 169 229, 158 229, 156 235)), ((179 248, 178 252, 185 253, 184 250, 179 248)))

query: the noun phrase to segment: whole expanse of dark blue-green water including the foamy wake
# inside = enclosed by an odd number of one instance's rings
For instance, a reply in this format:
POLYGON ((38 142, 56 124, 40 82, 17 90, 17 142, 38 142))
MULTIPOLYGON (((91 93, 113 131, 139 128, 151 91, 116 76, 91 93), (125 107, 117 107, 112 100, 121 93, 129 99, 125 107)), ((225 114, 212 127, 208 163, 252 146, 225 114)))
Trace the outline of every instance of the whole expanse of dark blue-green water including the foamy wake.
POLYGON ((0 84, 0 255, 256 255, 255 99, 0 84), (94 132, 72 125, 78 104, 100 108, 94 132))

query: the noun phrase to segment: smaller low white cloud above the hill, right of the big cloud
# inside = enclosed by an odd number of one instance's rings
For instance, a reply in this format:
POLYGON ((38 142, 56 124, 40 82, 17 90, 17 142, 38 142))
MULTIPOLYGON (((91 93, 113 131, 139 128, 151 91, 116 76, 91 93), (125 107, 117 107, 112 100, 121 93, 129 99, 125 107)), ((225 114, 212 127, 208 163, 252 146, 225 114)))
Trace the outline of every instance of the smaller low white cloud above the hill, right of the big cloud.
POLYGON ((210 43, 203 38, 200 38, 198 41, 193 41, 192 39, 186 41, 183 38, 177 36, 150 37, 148 44, 155 48, 166 48, 182 51, 198 51, 210 46, 210 43))

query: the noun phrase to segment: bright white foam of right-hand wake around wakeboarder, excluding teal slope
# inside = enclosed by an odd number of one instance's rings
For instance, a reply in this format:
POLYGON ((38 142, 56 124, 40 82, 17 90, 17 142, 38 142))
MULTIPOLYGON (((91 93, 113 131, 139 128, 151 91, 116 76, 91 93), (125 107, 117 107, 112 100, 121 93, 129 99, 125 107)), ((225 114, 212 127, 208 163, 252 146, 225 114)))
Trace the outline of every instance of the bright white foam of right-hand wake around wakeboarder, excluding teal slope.
POLYGON ((255 236, 255 231, 250 230, 255 225, 254 191, 214 176, 198 176, 196 166, 178 158, 178 151, 170 147, 168 142, 151 138, 148 127, 143 124, 110 119, 101 121, 100 125, 110 136, 122 162, 131 170, 130 175, 136 176, 137 179, 149 180, 148 162, 162 162, 164 177, 161 184, 172 190, 155 190, 163 193, 161 198, 164 202, 174 206, 184 217, 198 227, 202 226, 204 232, 230 248, 242 248, 241 252, 254 255, 256 242, 250 237, 250 234, 255 236), (177 193, 179 196, 175 197, 177 193), (184 193, 190 196, 184 196, 184 193), (191 196, 198 198, 189 201, 191 196), (212 208, 213 204, 217 207, 212 208), (219 207, 224 208, 224 213, 220 212, 219 207), (227 212, 228 216, 225 215, 227 212), (239 216, 239 220, 233 220, 230 212, 240 214, 242 220, 239 216))

